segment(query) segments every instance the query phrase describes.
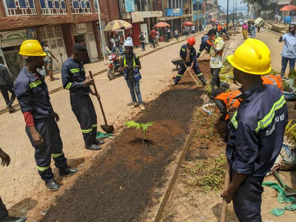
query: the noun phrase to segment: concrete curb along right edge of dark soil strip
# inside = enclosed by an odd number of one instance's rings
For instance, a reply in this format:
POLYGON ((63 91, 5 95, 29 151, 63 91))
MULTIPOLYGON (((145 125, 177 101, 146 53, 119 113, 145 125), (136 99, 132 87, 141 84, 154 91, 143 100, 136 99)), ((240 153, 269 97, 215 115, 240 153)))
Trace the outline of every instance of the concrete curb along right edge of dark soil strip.
POLYGON ((178 154, 175 155, 176 160, 172 162, 166 169, 166 172, 168 172, 166 176, 167 182, 164 184, 163 187, 156 188, 154 194, 152 195, 154 197, 160 196, 160 198, 154 199, 155 205, 152 208, 146 209, 146 212, 143 213, 144 218, 142 218, 141 221, 159 222, 161 220, 162 213, 164 211, 164 208, 166 207, 167 201, 171 195, 175 182, 178 178, 180 167, 183 163, 183 160, 185 158, 185 155, 187 154, 189 147, 191 146, 192 140, 193 133, 192 130, 190 130, 184 148, 178 154))

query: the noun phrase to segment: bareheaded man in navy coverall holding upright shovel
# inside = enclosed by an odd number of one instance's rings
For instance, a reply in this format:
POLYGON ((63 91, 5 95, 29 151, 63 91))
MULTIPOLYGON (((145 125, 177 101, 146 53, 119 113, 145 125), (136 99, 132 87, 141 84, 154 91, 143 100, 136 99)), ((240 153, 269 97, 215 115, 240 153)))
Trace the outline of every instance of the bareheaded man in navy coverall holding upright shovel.
POLYGON ((82 62, 85 54, 85 46, 80 43, 73 45, 72 55, 62 65, 62 84, 64 89, 69 90, 72 111, 80 124, 85 149, 100 150, 101 146, 99 145, 104 144, 104 141, 96 139, 97 114, 89 97, 89 93, 96 96, 96 93, 90 88, 95 80, 85 77, 82 62))

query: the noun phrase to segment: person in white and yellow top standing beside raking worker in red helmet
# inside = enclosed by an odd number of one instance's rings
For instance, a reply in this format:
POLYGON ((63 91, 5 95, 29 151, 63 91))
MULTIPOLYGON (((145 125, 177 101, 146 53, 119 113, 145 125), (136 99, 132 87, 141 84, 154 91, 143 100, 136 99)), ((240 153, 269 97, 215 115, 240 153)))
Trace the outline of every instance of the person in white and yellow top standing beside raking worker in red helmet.
POLYGON ((212 74, 212 94, 210 95, 210 103, 214 102, 214 91, 217 87, 220 87, 219 72, 222 64, 222 54, 224 48, 224 40, 221 36, 217 36, 214 29, 208 32, 208 36, 212 47, 210 49, 210 69, 212 74))

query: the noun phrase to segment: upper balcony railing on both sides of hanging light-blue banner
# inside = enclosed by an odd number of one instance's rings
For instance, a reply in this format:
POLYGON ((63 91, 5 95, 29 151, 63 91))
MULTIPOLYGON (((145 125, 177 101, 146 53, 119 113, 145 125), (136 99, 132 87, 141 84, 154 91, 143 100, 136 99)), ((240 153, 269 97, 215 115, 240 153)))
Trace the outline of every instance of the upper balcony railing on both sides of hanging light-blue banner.
MULTIPOLYGON (((162 11, 161 0, 135 0, 135 11, 162 11)), ((125 1, 119 0, 120 13, 126 13, 125 1)))

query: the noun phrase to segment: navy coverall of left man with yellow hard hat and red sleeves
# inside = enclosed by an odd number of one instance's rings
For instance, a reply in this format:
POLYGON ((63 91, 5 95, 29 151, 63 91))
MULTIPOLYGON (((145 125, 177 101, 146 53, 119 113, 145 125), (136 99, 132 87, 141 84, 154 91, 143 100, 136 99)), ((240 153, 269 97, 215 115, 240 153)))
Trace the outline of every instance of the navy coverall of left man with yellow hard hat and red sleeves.
POLYGON ((22 112, 32 112, 35 128, 44 140, 43 145, 36 145, 26 126, 27 135, 35 148, 35 160, 39 175, 45 182, 48 182, 54 179, 50 167, 51 157, 55 161, 55 167, 65 169, 68 165, 47 85, 43 76, 39 73, 37 75, 39 79, 24 67, 15 80, 14 93, 22 112))

